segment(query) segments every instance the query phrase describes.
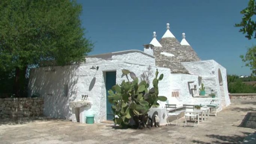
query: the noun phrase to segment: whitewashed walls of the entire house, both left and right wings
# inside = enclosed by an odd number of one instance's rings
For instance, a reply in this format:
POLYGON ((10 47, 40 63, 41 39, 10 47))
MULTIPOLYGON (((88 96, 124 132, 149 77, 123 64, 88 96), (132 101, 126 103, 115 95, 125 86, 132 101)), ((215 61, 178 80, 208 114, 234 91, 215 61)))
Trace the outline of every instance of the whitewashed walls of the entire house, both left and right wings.
MULTIPOLYGON (((210 99, 192 97, 189 86, 194 88, 196 85, 198 90, 193 93, 198 95, 200 85, 198 76, 202 76, 206 93, 210 94, 213 89, 219 98, 219 104, 221 104, 223 98, 220 97, 221 90, 218 79, 218 70, 220 69, 225 103, 226 105, 230 104, 226 69, 213 60, 183 62, 182 64, 191 74, 171 74, 169 68, 155 67, 154 57, 143 52, 111 53, 108 56, 91 56, 86 58, 86 64, 54 67, 54 71, 49 67, 34 68, 30 72, 29 94, 39 93, 45 97, 44 114, 46 116, 65 119, 71 119, 71 109, 68 103, 81 101, 82 95, 88 95, 87 100, 92 103, 88 112, 93 111, 95 122, 100 122, 106 120, 105 72, 116 71, 116 83, 120 84, 122 80, 126 80, 126 77, 121 77, 122 69, 133 71, 139 77, 151 65, 153 76, 150 78, 150 82, 154 79, 156 68, 158 68, 159 75, 164 74, 164 79, 159 82, 159 95, 167 96, 169 103, 180 102, 181 104, 198 104, 199 101, 201 101, 200 103, 210 102, 210 99), (90 69, 92 65, 98 66, 99 70, 90 69), (93 80, 95 80, 95 84, 89 89, 93 80), (64 92, 65 85, 68 85, 67 96, 64 92), (173 91, 179 91, 180 96, 177 99, 171 97, 173 91)), ((131 78, 129 79, 131 80, 131 78)), ((151 87, 152 83, 150 83, 151 87)), ((164 107, 164 103, 161 103, 161 107, 164 107)))

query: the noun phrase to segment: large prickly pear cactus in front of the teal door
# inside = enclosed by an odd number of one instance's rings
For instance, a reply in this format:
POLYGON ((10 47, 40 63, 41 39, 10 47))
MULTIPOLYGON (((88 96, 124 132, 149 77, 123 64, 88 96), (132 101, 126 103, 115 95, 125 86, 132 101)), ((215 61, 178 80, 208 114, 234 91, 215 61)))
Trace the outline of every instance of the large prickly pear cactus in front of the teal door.
POLYGON ((165 96, 158 96, 158 82, 164 77, 161 74, 158 77, 158 70, 156 69, 155 79, 153 80, 153 88, 149 88, 146 81, 139 83, 138 78, 129 70, 122 70, 124 76, 128 81, 123 81, 121 85, 115 85, 108 91, 109 102, 112 104, 112 110, 115 117, 113 121, 115 125, 127 127, 129 120, 132 117, 139 117, 147 114, 149 108, 152 106, 158 107, 158 100, 166 101, 165 96), (128 74, 133 79, 132 82, 128 79, 128 74), (116 91, 116 93, 114 93, 116 91))

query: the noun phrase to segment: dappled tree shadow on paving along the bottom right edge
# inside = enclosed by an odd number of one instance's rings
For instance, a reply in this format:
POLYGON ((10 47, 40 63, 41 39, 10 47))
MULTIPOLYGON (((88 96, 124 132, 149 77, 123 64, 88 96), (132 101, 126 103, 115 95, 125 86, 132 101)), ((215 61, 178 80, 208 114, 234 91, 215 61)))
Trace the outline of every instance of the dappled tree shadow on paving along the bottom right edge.
MULTIPOLYGON (((248 132, 241 132, 243 133, 243 136, 241 135, 206 135, 208 138, 214 139, 210 143, 199 141, 199 140, 193 140, 192 142, 195 144, 241 144, 247 135, 250 133, 248 132)), ((209 139, 211 140, 211 139, 209 139)))

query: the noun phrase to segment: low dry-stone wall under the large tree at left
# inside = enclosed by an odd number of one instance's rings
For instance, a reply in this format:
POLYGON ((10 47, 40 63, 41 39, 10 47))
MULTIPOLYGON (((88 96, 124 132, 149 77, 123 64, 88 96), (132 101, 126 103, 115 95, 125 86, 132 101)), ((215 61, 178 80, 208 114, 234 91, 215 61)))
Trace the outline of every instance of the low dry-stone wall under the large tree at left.
POLYGON ((0 98, 0 118, 43 115, 43 98, 0 98))

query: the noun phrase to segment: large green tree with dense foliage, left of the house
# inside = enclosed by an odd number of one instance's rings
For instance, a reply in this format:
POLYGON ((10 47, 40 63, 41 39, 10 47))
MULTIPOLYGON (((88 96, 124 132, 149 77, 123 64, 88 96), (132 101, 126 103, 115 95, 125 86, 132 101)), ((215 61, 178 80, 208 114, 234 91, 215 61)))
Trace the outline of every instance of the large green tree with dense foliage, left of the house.
POLYGON ((14 73, 21 96, 30 65, 53 60, 57 65, 84 61, 92 50, 74 0, 1 0, 0 71, 14 73))

